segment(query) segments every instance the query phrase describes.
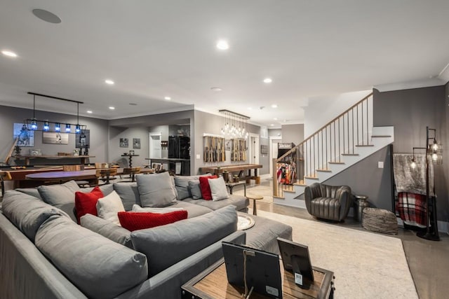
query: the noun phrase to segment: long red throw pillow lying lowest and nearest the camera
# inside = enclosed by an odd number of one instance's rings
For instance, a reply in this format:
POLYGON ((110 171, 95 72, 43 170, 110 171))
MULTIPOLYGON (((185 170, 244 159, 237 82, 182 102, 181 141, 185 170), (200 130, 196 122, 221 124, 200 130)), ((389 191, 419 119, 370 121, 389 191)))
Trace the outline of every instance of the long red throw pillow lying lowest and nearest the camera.
POLYGON ((144 228, 154 228, 159 225, 166 225, 182 219, 187 219, 187 211, 172 211, 164 214, 119 211, 120 225, 131 232, 133 230, 143 230, 144 228))

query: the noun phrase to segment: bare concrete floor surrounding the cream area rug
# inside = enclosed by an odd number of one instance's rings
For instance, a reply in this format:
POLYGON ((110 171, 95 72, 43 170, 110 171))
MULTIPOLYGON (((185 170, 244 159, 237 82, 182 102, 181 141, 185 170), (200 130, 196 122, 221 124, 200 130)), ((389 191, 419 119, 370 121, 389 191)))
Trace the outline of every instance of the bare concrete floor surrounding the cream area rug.
MULTIPOLYGON (((269 186, 269 183, 269 181, 262 181, 263 185, 269 186)), ((243 188, 236 186, 234 190, 239 190, 237 187, 243 188)), ((249 188, 253 188, 253 186, 248 186, 247 189, 249 188)), ((267 195, 271 196, 272 194, 267 195)), ((253 202, 250 202, 250 209, 253 209, 253 202)), ((264 202, 257 202, 257 209, 318 221, 306 209, 264 202)), ((356 230, 365 230, 362 228, 361 223, 354 221, 352 217, 348 217, 343 223, 335 223, 335 225, 356 230)), ((408 267, 410 268, 420 298, 449 298, 449 235, 440 233, 441 241, 435 242, 417 237, 416 232, 413 230, 399 228, 398 235, 389 236, 402 240, 408 267)), ((375 298, 374 294, 373 298, 375 298)))

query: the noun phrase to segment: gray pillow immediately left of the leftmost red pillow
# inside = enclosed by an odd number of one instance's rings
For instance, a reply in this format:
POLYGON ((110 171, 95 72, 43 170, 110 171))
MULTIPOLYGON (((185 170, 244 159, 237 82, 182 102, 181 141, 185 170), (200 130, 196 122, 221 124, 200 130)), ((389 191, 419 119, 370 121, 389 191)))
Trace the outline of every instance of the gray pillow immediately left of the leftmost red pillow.
POLYGON ((73 208, 75 207, 75 192, 80 188, 75 181, 68 181, 60 185, 39 186, 37 190, 44 202, 62 209, 73 221, 76 221, 73 208))

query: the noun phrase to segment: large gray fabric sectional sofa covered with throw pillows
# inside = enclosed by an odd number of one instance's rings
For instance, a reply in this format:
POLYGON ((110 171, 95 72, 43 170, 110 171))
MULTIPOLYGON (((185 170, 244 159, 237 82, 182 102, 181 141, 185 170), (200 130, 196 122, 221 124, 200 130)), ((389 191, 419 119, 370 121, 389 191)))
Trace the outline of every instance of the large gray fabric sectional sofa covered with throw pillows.
MULTIPOLYGON (((185 185, 192 179, 175 181, 177 197, 183 197, 175 206, 187 209, 189 218, 134 232, 90 214, 76 224, 73 199, 60 190, 7 191, 0 213, 2 296, 180 298, 182 284, 222 257, 222 241, 246 244, 236 210, 247 211, 248 199, 193 200, 185 185)), ((105 195, 115 190, 126 210, 140 204, 136 183, 100 188, 105 195)), ((269 250, 276 237, 291 239, 287 225, 256 218, 249 245, 269 250)))

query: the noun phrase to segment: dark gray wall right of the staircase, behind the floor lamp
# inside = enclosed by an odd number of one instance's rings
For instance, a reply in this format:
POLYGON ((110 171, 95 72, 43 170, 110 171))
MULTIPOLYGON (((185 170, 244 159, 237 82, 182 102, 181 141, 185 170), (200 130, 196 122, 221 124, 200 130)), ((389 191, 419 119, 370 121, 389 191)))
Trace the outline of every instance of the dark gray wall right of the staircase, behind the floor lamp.
MULTIPOLYGON (((437 130, 436 139, 443 144, 443 165, 435 167, 438 220, 449 221, 448 85, 389 92, 374 90, 373 99, 374 125, 394 126, 395 153, 412 153, 413 146, 425 147, 426 127, 437 130)), ((388 188, 382 182, 371 183, 373 188, 388 188)))

